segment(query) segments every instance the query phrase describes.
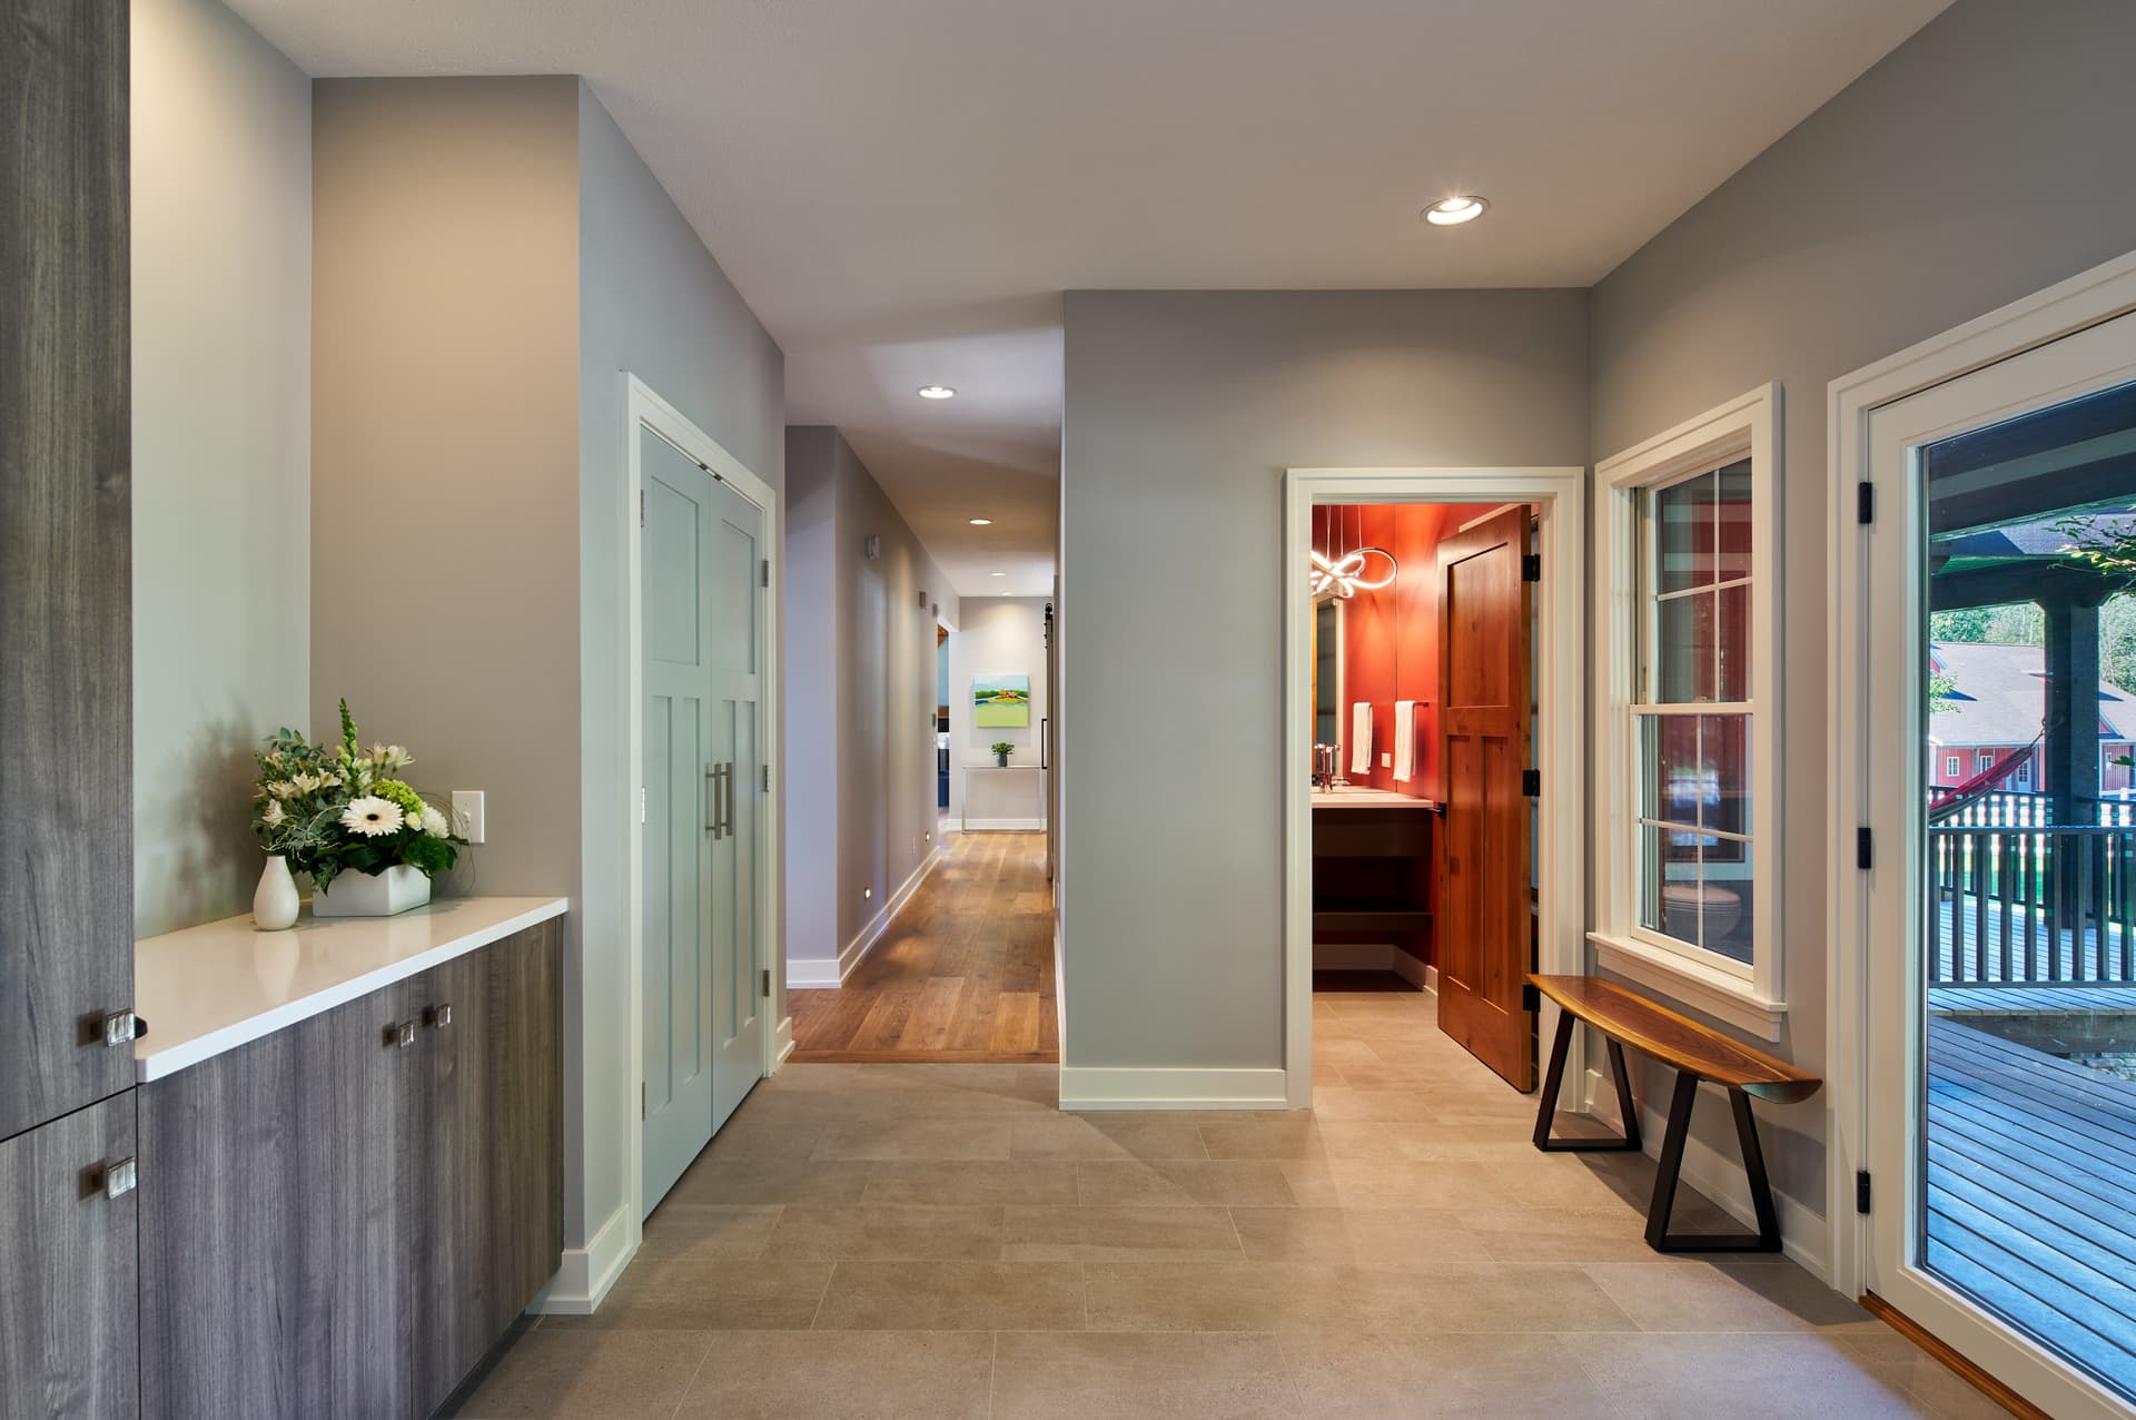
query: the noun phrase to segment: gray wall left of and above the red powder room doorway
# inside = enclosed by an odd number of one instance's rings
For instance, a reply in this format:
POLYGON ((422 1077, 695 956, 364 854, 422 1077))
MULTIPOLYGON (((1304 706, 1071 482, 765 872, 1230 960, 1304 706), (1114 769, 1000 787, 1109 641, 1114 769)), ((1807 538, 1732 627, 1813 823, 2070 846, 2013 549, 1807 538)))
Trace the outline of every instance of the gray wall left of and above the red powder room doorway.
POLYGON ((1587 301, 1068 293, 1066 327, 1062 1059, 1277 1068, 1282 470, 1585 463, 1587 301))

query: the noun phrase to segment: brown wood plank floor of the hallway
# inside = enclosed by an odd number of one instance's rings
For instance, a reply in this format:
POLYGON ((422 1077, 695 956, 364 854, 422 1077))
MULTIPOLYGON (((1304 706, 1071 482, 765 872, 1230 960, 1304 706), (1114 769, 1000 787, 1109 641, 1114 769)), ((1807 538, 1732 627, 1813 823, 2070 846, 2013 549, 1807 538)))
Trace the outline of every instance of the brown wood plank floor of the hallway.
POLYGON ((839 991, 788 991, 792 1059, 1055 1063, 1053 888, 1042 833, 946 833, 839 991))

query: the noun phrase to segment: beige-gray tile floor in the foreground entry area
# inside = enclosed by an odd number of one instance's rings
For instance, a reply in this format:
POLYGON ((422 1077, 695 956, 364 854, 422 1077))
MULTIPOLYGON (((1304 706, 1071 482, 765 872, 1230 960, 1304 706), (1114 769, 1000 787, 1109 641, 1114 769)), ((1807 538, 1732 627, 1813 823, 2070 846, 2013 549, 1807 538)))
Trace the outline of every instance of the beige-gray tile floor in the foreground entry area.
POLYGON ((1532 1098, 1431 1008, 1318 995, 1309 1115, 1062 1115, 1051 1066, 788 1066, 607 1305, 521 1332, 459 1414, 2001 1414, 1792 1262, 1649 1251, 1651 1162, 1536 1153, 1532 1098))

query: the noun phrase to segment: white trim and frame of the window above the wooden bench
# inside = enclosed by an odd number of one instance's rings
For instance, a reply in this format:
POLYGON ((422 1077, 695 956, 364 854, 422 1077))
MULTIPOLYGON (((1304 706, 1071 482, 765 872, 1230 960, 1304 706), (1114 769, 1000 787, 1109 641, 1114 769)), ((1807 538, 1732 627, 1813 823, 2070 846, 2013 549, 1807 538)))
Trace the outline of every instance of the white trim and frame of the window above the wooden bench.
POLYGON ((1596 927, 1587 940, 1596 965, 1660 991, 1683 1006, 1779 1040, 1788 1019, 1781 950, 1779 696, 1779 384, 1730 399, 1596 466, 1593 545, 1593 724, 1596 724, 1596 927), (1752 839, 1758 893, 1752 901, 1752 963, 1683 946, 1638 927, 1636 843, 1638 764, 1632 715, 1638 643, 1638 493, 1700 468, 1749 455, 1752 461, 1752 839))

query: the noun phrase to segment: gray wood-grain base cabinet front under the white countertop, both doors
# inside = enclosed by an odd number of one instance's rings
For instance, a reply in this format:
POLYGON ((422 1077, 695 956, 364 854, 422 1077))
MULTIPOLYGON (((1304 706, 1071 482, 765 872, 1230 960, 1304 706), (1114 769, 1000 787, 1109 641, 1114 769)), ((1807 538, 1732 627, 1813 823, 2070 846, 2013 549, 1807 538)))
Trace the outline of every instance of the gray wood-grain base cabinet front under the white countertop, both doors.
POLYGON ((143 1085, 147 1416, 427 1416, 562 1256, 543 922, 143 1085))

